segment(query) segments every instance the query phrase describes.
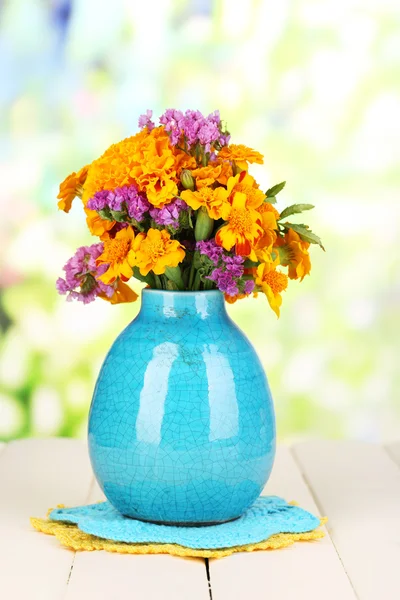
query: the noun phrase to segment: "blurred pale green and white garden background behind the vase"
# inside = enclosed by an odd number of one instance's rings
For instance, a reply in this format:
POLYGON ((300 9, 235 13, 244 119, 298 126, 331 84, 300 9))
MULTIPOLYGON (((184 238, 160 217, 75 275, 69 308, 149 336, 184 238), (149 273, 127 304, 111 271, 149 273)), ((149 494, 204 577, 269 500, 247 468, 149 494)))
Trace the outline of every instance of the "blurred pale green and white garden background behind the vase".
MULTIPOLYGON (((261 355, 281 439, 399 437, 399 0, 0 2, 0 439, 84 436, 106 351, 138 303, 66 303, 92 243, 58 184, 146 108, 219 108, 252 173, 310 202, 311 277, 281 319, 229 311, 261 355)), ((279 206, 278 206, 279 208, 279 206)))

